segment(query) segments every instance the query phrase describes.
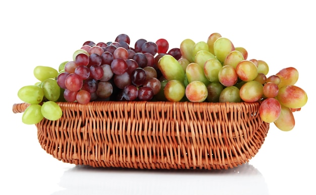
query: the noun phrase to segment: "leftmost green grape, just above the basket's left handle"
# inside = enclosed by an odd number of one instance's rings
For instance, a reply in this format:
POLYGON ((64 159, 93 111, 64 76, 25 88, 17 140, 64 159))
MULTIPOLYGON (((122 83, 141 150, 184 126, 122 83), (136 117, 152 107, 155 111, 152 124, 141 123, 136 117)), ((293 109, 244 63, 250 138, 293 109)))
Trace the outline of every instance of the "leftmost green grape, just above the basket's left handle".
POLYGON ((28 104, 39 104, 44 98, 44 91, 38 85, 26 85, 19 89, 18 97, 28 104))

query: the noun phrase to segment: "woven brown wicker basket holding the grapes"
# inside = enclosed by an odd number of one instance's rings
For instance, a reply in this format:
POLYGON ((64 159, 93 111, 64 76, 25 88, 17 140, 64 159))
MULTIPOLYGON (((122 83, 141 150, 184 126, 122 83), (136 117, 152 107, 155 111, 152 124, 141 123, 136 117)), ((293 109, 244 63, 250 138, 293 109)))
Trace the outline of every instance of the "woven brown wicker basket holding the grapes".
MULTIPOLYGON (((36 124, 39 143, 65 163, 135 169, 228 169, 249 161, 269 123, 255 103, 58 103, 36 124)), ((29 105, 14 104, 22 113, 29 105)))

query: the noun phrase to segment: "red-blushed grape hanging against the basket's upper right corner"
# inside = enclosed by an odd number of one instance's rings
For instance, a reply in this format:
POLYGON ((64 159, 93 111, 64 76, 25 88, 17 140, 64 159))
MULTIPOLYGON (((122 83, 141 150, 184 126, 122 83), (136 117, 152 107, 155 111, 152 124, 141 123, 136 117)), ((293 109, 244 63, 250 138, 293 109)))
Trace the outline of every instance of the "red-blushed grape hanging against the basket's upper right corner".
POLYGON ((281 113, 281 104, 273 97, 269 97, 261 102, 259 106, 259 115, 262 121, 272 123, 276 121, 281 113))

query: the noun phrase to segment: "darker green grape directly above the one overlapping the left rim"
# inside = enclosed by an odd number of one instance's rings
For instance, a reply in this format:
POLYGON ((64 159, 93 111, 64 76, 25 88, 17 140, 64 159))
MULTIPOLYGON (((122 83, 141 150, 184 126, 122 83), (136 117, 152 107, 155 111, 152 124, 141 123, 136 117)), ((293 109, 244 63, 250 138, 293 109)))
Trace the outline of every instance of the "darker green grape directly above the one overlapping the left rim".
POLYGON ((61 87, 57 84, 57 80, 49 78, 42 82, 41 87, 44 92, 44 97, 48 101, 58 101, 60 93, 61 93, 61 87))

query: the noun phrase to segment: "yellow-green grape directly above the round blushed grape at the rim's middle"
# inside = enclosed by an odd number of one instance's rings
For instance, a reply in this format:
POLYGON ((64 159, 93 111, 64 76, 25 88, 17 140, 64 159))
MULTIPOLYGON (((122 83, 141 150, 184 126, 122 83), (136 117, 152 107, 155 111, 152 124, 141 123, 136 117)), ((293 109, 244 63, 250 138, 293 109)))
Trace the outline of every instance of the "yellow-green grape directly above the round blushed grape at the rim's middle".
POLYGON ((207 78, 205 77, 203 67, 195 62, 190 63, 187 66, 185 72, 189 83, 193 81, 201 81, 205 85, 209 83, 209 80, 207 80, 207 78))

